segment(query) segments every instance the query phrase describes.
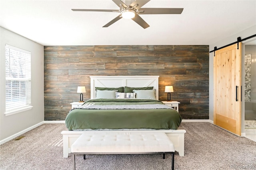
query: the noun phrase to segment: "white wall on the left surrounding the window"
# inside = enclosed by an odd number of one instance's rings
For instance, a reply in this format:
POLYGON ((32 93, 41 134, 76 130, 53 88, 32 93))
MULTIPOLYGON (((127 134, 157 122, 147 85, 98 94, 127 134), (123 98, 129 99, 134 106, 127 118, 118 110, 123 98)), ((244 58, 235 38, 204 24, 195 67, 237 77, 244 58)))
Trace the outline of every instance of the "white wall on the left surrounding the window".
POLYGON ((0 27, 0 141, 44 121, 44 46, 0 27), (31 51, 32 106, 5 116, 5 44, 31 51))

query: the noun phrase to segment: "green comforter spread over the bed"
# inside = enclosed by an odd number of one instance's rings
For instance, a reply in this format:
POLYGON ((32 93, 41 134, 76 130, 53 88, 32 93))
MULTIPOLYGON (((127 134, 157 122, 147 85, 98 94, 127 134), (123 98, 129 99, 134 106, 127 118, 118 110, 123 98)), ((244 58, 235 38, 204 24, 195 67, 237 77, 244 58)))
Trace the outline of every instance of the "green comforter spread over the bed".
MULTIPOLYGON (((155 105, 153 99, 90 99, 88 105, 155 105)), ((181 123, 174 109, 72 109, 65 120, 68 130, 150 128, 177 129, 181 123)))

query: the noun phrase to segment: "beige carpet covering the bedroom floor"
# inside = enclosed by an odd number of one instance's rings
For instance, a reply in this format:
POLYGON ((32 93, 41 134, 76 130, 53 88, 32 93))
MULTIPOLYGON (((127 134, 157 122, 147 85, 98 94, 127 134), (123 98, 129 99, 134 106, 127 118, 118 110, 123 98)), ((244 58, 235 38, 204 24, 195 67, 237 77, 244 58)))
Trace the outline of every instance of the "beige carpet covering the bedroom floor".
MULTIPOLYGON (((178 170, 256 169, 256 142, 238 137, 210 123, 182 123, 185 156, 175 154, 178 170)), ((0 145, 0 170, 71 170, 71 157, 63 158, 64 124, 44 124, 0 145)), ((76 156, 77 170, 167 170, 171 155, 118 154, 76 156)))

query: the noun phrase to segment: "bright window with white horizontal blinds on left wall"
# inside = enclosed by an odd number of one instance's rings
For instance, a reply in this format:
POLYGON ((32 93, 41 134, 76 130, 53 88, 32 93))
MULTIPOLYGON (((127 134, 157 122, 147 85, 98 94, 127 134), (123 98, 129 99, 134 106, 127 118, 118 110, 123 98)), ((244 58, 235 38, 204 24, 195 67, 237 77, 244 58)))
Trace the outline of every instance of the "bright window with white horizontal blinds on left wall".
POLYGON ((5 114, 31 109, 31 53, 5 46, 5 114))

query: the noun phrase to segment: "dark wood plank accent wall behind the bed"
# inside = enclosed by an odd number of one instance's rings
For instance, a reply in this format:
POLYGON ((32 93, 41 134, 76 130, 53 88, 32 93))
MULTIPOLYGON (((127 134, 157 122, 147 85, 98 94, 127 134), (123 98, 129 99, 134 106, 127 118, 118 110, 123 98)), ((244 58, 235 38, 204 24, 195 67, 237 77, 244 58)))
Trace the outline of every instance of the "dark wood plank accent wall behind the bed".
POLYGON ((159 100, 173 85, 183 119, 209 119, 208 45, 45 46, 44 120, 65 120, 78 86, 90 99, 91 75, 159 75, 159 100))

